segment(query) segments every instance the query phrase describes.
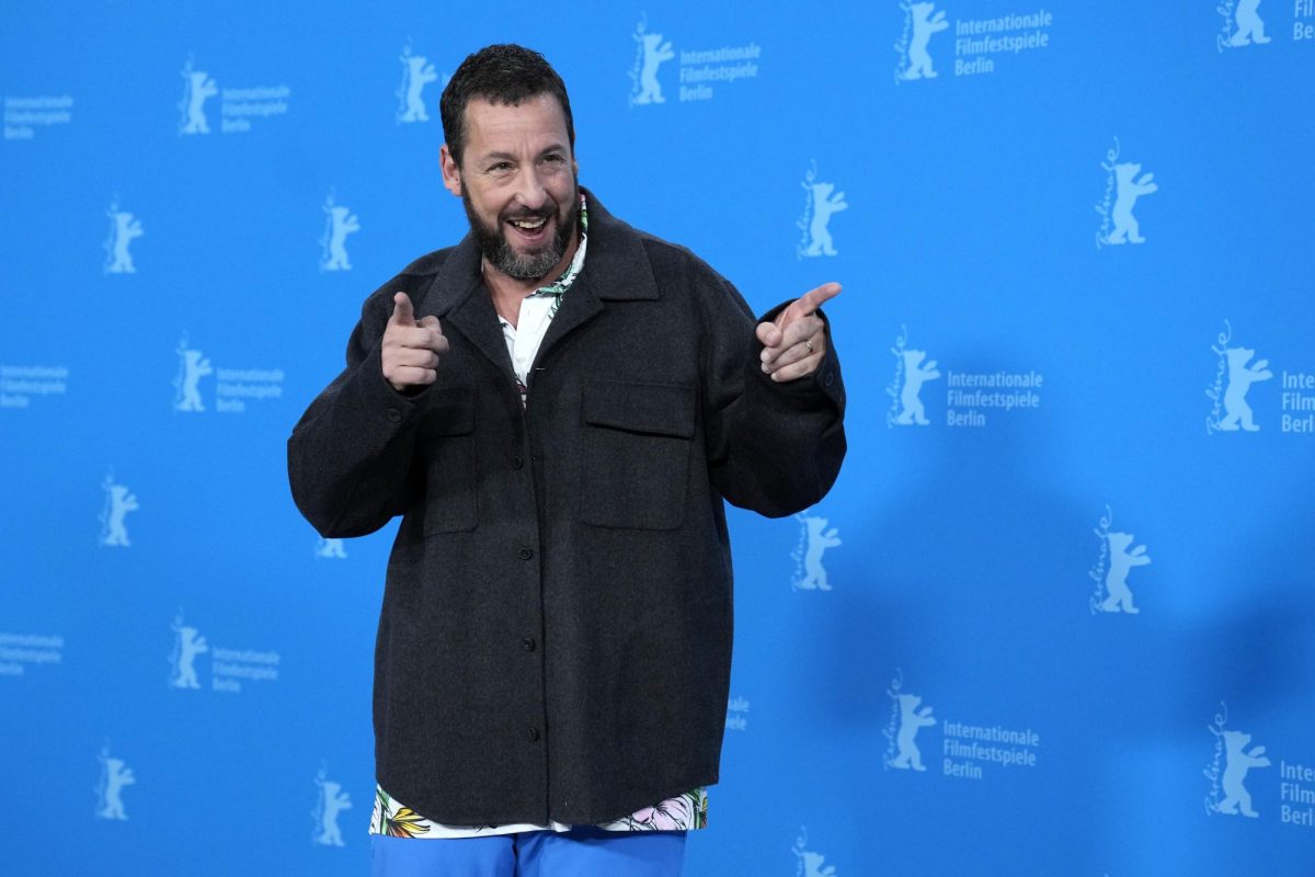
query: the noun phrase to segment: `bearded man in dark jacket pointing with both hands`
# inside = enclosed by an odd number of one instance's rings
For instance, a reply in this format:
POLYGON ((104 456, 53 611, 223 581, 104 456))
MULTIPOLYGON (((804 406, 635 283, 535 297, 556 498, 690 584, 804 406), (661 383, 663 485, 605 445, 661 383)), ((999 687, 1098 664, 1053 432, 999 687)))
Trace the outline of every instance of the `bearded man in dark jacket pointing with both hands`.
POLYGON ((755 327, 707 266, 610 216, 537 53, 471 55, 441 109, 471 234, 366 301, 288 446, 326 538, 402 515, 376 874, 679 874, 725 727, 723 498, 785 515, 835 480, 817 312, 839 287, 755 327))

